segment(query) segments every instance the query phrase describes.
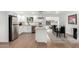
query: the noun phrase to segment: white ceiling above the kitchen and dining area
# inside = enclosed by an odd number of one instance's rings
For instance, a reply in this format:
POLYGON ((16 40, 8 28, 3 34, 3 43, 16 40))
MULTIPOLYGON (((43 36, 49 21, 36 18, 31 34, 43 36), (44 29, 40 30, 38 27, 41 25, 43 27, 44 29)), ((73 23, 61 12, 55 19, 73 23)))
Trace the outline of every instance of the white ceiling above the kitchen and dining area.
POLYGON ((67 14, 76 11, 10 11, 10 13, 16 15, 60 15, 60 14, 67 14))

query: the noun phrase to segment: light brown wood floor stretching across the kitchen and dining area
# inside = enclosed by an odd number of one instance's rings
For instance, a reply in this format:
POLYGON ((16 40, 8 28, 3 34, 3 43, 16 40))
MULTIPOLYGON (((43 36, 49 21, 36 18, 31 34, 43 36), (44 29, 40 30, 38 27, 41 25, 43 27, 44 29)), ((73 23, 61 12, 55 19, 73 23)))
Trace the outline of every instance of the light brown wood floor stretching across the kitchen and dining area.
POLYGON ((68 40, 50 40, 47 44, 37 43, 35 41, 35 34, 24 33, 15 41, 10 42, 9 46, 10 48, 78 48, 79 42, 73 43, 68 40))

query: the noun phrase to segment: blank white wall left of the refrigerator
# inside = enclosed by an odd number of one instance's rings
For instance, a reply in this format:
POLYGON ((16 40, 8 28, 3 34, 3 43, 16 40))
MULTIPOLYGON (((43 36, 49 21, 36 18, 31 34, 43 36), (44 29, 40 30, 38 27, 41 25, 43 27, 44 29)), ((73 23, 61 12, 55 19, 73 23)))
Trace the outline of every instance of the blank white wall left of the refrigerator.
POLYGON ((0 11, 0 42, 8 41, 8 12, 0 11))

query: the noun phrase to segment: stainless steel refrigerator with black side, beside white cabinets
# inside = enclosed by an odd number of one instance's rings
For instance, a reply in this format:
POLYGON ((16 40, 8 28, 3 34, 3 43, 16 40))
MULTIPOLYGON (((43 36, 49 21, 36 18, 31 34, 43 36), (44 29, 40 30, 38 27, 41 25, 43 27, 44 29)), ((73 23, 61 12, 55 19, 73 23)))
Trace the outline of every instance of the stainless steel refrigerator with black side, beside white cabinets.
POLYGON ((9 15, 9 41, 13 41, 18 38, 18 19, 16 16, 9 15))

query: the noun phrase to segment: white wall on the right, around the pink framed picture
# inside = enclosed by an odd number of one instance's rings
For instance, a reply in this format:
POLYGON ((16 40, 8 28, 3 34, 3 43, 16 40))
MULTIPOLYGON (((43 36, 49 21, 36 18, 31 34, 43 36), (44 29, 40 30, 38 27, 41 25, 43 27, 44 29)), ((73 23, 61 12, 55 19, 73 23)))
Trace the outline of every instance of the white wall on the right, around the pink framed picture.
POLYGON ((78 30, 77 34, 79 37, 79 12, 73 11, 73 12, 61 15, 60 16, 60 24, 66 26, 66 33, 68 33, 70 35, 73 35, 73 28, 77 28, 77 30, 78 30), (73 14, 77 14, 77 25, 68 24, 68 16, 73 15, 73 14))

